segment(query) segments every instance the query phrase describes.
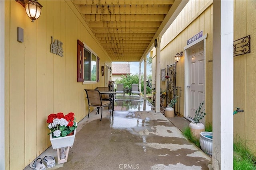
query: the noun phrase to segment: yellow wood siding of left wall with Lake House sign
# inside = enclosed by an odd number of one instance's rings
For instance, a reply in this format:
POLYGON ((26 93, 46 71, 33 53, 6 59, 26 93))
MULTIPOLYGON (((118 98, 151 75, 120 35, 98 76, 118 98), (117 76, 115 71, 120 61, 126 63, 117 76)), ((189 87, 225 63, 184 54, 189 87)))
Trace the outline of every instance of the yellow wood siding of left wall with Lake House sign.
POLYGON ((101 74, 95 84, 76 82, 77 39, 97 53, 100 66, 111 65, 72 2, 40 4, 32 23, 19 3, 5 3, 6 169, 23 169, 50 147, 50 113, 74 112, 80 121, 88 114, 84 89, 104 86, 101 74), (16 41, 17 27, 24 29, 23 43, 16 41), (50 53, 51 36, 63 42, 64 57, 50 53))

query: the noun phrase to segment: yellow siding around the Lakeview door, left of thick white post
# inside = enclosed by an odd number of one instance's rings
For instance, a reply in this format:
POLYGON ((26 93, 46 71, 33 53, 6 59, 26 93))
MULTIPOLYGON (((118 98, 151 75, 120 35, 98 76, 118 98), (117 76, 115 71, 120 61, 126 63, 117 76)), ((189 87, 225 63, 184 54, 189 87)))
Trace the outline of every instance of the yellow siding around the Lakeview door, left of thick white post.
MULTIPOLYGON (((205 109, 206 123, 212 123, 212 1, 189 1, 179 16, 162 36, 161 69, 175 63, 174 55, 184 51, 186 41, 203 31, 208 34, 206 39, 206 80, 205 109), (196 9, 196 10, 195 10, 196 9), (197 13, 195 13, 197 11, 197 13), (199 12, 198 12, 199 11, 199 12), (207 50, 208 49, 208 50, 207 50)), ((184 116, 184 57, 176 64, 176 86, 181 87, 180 114, 184 116)), ((152 64, 153 65, 153 64, 152 64)), ((161 82, 161 88, 166 90, 166 82, 161 82)))

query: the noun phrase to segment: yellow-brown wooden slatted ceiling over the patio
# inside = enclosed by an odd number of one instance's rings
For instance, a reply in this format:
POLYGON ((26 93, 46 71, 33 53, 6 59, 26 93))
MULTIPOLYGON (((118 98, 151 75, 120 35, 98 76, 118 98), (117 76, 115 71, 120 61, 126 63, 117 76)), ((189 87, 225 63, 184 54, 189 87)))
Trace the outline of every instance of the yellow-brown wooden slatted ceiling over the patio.
MULTIPOLYGON (((112 61, 140 61, 174 0, 73 0, 112 61)), ((156 37, 156 36, 155 36, 156 37)), ((151 44, 150 44, 151 43, 151 44)))

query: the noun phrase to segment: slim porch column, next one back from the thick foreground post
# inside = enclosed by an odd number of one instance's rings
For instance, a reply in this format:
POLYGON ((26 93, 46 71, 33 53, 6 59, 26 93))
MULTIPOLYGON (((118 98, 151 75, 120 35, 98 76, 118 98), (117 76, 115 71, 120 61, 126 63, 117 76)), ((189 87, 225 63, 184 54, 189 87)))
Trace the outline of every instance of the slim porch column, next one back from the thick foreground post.
POLYGON ((158 36, 156 45, 156 112, 160 112, 160 78, 161 78, 161 68, 160 68, 160 44, 162 36, 158 36))

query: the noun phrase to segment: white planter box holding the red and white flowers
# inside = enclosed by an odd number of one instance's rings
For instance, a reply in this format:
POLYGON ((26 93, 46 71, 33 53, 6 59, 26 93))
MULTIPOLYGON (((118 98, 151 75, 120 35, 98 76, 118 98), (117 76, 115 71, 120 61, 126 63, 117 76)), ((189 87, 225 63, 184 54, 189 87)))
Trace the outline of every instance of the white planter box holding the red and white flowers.
POLYGON ((50 134, 50 141, 52 143, 52 148, 57 149, 57 148, 64 148, 64 147, 72 147, 74 144, 75 136, 76 136, 76 129, 74 130, 74 135, 71 135, 71 136, 52 138, 52 134, 50 134))

